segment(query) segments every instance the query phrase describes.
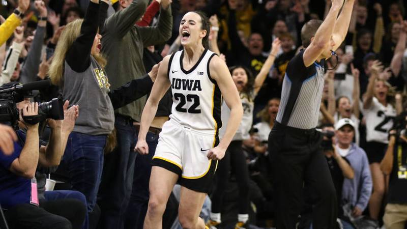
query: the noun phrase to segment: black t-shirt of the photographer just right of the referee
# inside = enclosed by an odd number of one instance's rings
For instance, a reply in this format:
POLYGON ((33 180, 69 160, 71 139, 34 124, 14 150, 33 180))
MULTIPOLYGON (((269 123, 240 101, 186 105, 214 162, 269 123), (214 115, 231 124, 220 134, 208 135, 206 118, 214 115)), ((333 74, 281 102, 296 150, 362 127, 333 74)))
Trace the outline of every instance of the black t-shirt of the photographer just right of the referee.
MULTIPOLYGON (((336 191, 336 201, 338 203, 338 216, 343 215, 341 200, 342 200, 342 186, 343 186, 343 173, 339 167, 338 162, 333 157, 325 157, 328 162, 329 170, 331 171, 332 181, 334 183, 335 191, 336 191)), ((348 164, 349 161, 342 157, 348 164)))

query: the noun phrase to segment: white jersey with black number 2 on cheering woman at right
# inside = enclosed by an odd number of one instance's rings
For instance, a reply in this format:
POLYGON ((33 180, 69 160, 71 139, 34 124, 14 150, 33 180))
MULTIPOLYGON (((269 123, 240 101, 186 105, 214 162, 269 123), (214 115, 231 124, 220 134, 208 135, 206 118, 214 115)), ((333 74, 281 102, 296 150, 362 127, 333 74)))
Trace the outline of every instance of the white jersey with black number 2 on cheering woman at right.
POLYGON ((366 141, 389 143, 388 131, 396 117, 394 107, 390 103, 383 106, 376 97, 373 97, 371 107, 363 109, 363 115, 366 118, 366 141))

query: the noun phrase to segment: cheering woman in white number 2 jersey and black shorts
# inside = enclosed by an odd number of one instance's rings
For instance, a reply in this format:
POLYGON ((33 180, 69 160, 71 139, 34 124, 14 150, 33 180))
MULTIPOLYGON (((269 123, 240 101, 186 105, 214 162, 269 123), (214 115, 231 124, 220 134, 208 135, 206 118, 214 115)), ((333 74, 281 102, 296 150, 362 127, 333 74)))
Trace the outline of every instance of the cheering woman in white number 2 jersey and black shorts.
POLYGON ((379 219, 385 192, 385 176, 380 170, 388 140, 388 131, 393 126, 396 116, 394 108, 393 88, 381 73, 383 66, 379 61, 374 61, 371 67, 371 75, 367 91, 363 98, 363 116, 366 119, 366 147, 365 151, 369 159, 370 171, 373 180, 373 193, 369 200, 370 217, 379 219))

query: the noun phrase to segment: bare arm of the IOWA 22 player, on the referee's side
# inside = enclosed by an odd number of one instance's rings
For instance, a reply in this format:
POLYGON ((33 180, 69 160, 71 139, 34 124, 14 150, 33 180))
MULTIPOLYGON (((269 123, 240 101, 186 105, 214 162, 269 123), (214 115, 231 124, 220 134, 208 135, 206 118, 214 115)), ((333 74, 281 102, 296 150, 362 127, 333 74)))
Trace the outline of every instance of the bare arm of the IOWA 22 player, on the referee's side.
POLYGON ((242 102, 235 83, 232 80, 229 70, 224 61, 215 55, 209 64, 211 77, 217 82, 226 105, 230 108, 230 118, 226 126, 225 134, 219 145, 211 149, 208 153, 209 159, 220 160, 225 155, 225 151, 239 128, 243 116, 242 102))

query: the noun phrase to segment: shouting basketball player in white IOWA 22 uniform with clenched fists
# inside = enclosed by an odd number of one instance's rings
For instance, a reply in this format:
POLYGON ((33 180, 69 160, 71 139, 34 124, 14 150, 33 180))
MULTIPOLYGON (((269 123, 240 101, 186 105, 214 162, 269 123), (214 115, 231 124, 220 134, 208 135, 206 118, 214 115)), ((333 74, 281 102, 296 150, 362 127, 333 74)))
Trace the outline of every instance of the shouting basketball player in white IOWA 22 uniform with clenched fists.
POLYGON ((242 103, 227 66, 208 50, 209 22, 199 12, 181 20, 179 33, 184 49, 166 56, 141 115, 135 150, 148 153, 146 133, 158 102, 171 87, 173 104, 153 157, 150 201, 144 229, 162 228, 162 214, 172 187, 181 184, 179 220, 183 228, 204 229, 199 218, 203 201, 211 189, 217 160, 239 127, 242 103), (229 122, 219 142, 222 95, 230 108, 229 122))

